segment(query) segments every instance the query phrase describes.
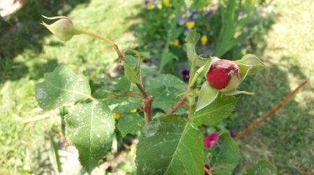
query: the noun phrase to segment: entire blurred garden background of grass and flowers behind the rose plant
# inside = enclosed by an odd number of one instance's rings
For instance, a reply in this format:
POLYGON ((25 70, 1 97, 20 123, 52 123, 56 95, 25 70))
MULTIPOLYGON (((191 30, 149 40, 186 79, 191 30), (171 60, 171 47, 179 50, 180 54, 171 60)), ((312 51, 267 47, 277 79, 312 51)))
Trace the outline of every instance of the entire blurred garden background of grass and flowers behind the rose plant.
MULTIPOLYGON (((76 26, 105 35, 122 49, 139 50, 158 73, 183 79, 181 73, 188 69, 184 38, 190 29, 201 34, 197 53, 203 57, 236 60, 254 53, 273 64, 269 72, 241 84, 254 96, 241 97, 229 119, 207 128, 207 133, 231 129, 239 133, 304 78, 314 77, 313 6, 311 0, 0 1, 0 174, 57 174, 59 167, 65 174, 82 174, 75 149, 63 137, 66 109, 41 111, 34 85, 60 64, 89 76, 95 85, 100 78, 119 74, 109 45, 85 36, 61 42, 40 26, 40 15, 66 15, 76 26), (3 15, 17 3, 16 10, 3 15)), ((239 142, 242 158, 237 173, 258 158, 270 160, 279 174, 314 173, 311 82, 239 142)), ((117 131, 111 153, 94 173, 134 173, 136 135, 122 138, 117 131)))

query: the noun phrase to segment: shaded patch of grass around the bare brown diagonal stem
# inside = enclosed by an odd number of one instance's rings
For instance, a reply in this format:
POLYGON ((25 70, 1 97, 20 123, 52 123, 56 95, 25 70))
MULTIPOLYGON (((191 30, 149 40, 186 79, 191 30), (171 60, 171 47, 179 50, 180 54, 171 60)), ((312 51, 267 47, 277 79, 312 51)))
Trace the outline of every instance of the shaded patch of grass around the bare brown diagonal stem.
MULTIPOLYGON (((292 65, 290 70, 300 80, 299 83, 306 77, 300 67, 292 65)), ((269 72, 260 72, 254 78, 244 81, 241 89, 254 91, 255 95, 243 96, 239 100, 233 124, 237 131, 246 128, 292 91, 287 73, 276 65, 269 72)), ((307 85, 302 91, 309 89, 307 85)), ((295 98, 292 99, 241 140, 242 158, 239 169, 246 169, 257 159, 267 158, 276 165, 280 174, 311 174, 314 116, 310 110, 314 101, 308 98, 305 102, 307 106, 301 106, 295 98)))

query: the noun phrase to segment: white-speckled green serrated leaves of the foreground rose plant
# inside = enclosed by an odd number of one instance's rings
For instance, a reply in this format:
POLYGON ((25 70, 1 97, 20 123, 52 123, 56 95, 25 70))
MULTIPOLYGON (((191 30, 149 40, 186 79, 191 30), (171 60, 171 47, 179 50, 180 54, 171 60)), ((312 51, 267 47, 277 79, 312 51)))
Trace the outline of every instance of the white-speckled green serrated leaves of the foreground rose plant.
MULTIPOLYGON (((195 52, 199 38, 200 35, 192 31, 186 39, 188 59, 194 69, 210 66, 211 63, 211 59, 199 60, 200 56, 195 52)), ((45 81, 36 85, 40 108, 52 110, 70 104, 70 111, 65 116, 66 138, 79 151, 82 167, 91 174, 109 151, 115 130, 123 136, 141 131, 135 160, 137 174, 204 174, 205 156, 200 126, 214 126, 225 119, 232 113, 238 98, 227 94, 205 94, 208 100, 204 101, 202 109, 197 109, 193 102, 195 96, 185 91, 193 81, 187 85, 171 74, 153 76, 151 73, 154 70, 142 63, 140 57, 126 56, 123 67, 124 76, 104 79, 103 85, 93 91, 88 78, 78 78, 64 65, 45 74, 45 81), (130 113, 133 109, 142 110, 141 101, 146 103, 147 100, 141 93, 143 89, 138 87, 144 87, 150 96, 154 96, 151 104, 154 117, 146 125, 144 117, 130 113), (167 115, 167 111, 177 103, 179 94, 188 98, 189 114, 181 107, 176 115, 167 115), (117 128, 114 113, 121 115, 117 128)), ((245 72, 251 68, 255 67, 251 66, 245 72)), ((195 71, 192 71, 191 76, 194 75, 195 71)), ((219 135, 218 147, 210 151, 212 156, 207 163, 211 171, 231 174, 239 161, 239 148, 230 134, 219 135)), ((260 171, 263 166, 268 164, 259 163, 253 170, 249 169, 248 174, 260 171)))

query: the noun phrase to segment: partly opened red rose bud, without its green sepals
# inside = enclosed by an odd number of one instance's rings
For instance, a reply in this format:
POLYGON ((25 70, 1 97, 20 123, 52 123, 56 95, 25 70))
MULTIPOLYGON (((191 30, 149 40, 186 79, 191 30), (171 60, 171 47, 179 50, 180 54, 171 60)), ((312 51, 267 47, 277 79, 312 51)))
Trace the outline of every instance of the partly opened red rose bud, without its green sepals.
POLYGON ((241 82, 241 72, 232 61, 217 60, 211 65, 206 79, 212 88, 227 92, 237 89, 241 82))

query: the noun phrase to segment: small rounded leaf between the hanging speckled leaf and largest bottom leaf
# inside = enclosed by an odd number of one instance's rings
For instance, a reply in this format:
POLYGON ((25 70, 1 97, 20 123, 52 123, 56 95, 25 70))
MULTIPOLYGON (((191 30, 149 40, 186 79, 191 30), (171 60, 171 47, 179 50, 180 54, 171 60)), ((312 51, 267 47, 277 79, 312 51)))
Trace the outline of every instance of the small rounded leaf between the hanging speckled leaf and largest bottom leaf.
POLYGON ((129 134, 137 134, 141 131, 142 127, 145 125, 145 120, 138 114, 126 114, 123 115, 118 122, 118 129, 121 132, 122 137, 129 134))

